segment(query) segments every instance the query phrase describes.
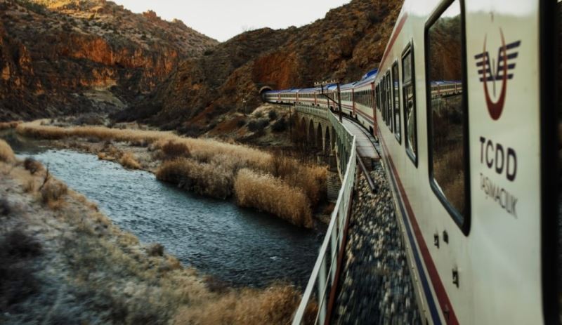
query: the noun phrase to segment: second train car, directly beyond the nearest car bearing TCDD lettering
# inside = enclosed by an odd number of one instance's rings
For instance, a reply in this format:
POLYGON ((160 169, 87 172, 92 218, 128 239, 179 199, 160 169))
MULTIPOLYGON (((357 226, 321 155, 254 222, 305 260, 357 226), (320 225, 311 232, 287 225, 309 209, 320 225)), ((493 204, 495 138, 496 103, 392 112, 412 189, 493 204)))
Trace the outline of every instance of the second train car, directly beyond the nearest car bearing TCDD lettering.
POLYGON ((378 69, 367 72, 353 87, 355 118, 359 123, 374 133, 374 79, 378 69))

